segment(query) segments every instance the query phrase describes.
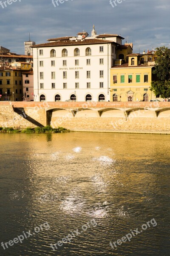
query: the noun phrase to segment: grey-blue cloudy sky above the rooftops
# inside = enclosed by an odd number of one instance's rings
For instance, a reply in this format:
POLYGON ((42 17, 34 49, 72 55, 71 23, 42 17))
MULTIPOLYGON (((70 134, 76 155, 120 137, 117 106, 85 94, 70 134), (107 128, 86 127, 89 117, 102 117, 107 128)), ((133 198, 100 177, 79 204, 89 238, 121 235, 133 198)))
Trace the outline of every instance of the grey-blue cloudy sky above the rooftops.
POLYGON ((24 54, 24 41, 76 36, 93 24, 97 35, 121 34, 133 52, 170 48, 170 0, 2 0, 0 46, 24 54), (7 2, 8 1, 8 2, 7 2), (6 2, 4 4, 4 2, 6 2), (57 5, 58 4, 58 5, 57 5), (5 6, 6 5, 6 6, 5 6))

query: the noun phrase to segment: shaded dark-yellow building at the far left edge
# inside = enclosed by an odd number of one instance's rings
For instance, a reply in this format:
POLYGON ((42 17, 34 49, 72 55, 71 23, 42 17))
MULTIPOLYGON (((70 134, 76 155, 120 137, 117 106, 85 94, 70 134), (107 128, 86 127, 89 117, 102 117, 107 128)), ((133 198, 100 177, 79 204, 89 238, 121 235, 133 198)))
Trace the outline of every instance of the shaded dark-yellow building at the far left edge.
POLYGON ((0 101, 22 101, 23 85, 21 70, 0 67, 0 101))

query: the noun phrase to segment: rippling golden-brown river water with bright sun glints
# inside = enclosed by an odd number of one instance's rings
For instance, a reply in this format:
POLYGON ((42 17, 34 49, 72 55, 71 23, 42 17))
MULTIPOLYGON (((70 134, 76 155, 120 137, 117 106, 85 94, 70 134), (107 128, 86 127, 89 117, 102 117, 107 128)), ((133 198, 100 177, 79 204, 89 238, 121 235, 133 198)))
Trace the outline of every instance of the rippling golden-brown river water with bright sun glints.
POLYGON ((0 256, 168 256, 169 178, 169 135, 0 134, 0 256))

